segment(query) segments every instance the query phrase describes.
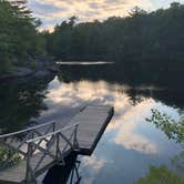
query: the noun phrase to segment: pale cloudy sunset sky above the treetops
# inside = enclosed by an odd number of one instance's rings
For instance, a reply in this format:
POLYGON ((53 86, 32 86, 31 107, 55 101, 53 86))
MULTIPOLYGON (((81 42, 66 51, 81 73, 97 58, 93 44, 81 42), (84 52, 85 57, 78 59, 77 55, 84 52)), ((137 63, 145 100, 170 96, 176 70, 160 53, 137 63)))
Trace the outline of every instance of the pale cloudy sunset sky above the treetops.
MULTIPOLYGON (((42 21, 42 29, 53 30, 57 23, 72 16, 82 22, 124 17, 135 6, 146 11, 167 8, 174 0, 29 0, 33 16, 42 21)), ((184 3, 184 0, 177 0, 184 3)))

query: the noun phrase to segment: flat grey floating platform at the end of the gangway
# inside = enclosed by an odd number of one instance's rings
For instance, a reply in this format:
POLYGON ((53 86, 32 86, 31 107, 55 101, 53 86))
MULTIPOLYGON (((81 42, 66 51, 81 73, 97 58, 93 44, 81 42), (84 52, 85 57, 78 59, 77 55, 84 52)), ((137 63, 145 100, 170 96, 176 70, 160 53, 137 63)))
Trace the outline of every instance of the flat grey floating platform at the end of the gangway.
POLYGON ((71 120, 70 124, 79 123, 79 154, 91 155, 93 153, 113 114, 112 106, 88 105, 71 120))

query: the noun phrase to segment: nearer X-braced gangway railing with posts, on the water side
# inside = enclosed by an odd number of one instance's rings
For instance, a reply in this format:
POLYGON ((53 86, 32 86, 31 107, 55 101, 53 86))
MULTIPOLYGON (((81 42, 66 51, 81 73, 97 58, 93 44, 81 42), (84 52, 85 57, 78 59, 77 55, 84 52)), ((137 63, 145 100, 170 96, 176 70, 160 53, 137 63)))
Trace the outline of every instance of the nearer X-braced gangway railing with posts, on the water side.
POLYGON ((37 183, 37 172, 39 172, 39 167, 41 165, 41 163, 44 161, 45 156, 49 156, 52 162, 61 162, 62 164, 64 164, 64 152, 67 151, 68 146, 70 146, 70 149, 72 151, 74 151, 75 149, 78 149, 78 140, 76 140, 76 132, 78 132, 78 126, 79 124, 72 124, 70 126, 65 126, 61 130, 54 131, 54 132, 50 132, 45 135, 42 136, 38 136, 35 139, 31 139, 25 141, 25 143, 28 144, 28 151, 27 151, 27 176, 25 176, 25 183, 30 184, 31 182, 37 183), (64 131, 70 130, 70 129, 74 129, 72 131, 72 133, 70 134, 70 136, 68 137, 67 135, 64 135, 64 131), (40 142, 42 142, 43 140, 47 140, 47 146, 42 146, 40 145, 40 142), (63 149, 61 150, 60 147, 60 140, 64 140, 65 145, 63 146, 63 149), (55 151, 51 152, 50 150, 52 147, 55 147, 55 151), (42 156, 38 160, 37 165, 32 166, 31 165, 31 159, 34 155, 35 151, 39 151, 42 156))

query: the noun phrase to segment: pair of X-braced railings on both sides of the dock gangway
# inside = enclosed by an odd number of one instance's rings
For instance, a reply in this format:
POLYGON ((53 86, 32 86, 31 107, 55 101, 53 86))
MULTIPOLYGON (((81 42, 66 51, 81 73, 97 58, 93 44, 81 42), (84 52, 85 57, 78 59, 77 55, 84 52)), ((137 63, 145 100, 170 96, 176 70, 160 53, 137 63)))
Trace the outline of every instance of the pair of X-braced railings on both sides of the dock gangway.
MULTIPOLYGON (((52 123, 45 123, 38 126, 29 127, 27 130, 18 131, 14 133, 9 133, 4 135, 0 135, 0 142, 4 144, 7 147, 14 150, 18 154, 22 156, 23 160, 27 162, 27 175, 25 175, 25 183, 30 184, 31 182, 37 183, 37 172, 39 172, 40 165, 44 161, 47 156, 49 156, 53 162, 61 162, 64 164, 64 152, 67 152, 67 149, 71 149, 71 151, 75 151, 79 149, 79 142, 78 142, 78 124, 72 124, 65 127, 60 127, 55 131, 55 122, 52 123), (51 126, 53 125, 53 126, 51 126), (43 130, 40 127, 48 126, 48 129, 43 130), (72 132, 69 135, 65 135, 64 131, 71 130, 72 132), (40 132, 42 131, 42 132, 40 132), (14 139, 14 135, 19 135, 21 133, 28 133, 25 137, 18 144, 18 145, 11 145, 7 142, 7 139, 14 139), (37 136, 35 136, 37 135, 37 136), (64 141, 64 144, 60 145, 60 140, 64 141), (42 143, 45 143, 41 145, 42 143), (27 144, 25 151, 22 151, 22 146, 27 144), (53 152, 51 152, 51 149, 55 149, 53 152), (37 165, 31 165, 31 159, 34 154, 40 153, 41 157, 38 160, 37 165)), ((68 153, 68 152, 67 152, 68 153)), ((6 167, 6 164, 8 163, 8 160, 3 164, 6 167)))

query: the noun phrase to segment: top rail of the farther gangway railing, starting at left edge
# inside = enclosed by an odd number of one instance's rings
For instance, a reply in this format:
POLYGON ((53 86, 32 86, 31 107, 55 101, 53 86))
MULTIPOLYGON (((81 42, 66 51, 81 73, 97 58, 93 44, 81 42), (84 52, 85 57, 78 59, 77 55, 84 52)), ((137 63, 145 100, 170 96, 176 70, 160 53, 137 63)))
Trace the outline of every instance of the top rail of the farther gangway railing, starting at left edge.
POLYGON ((33 126, 33 127, 28 127, 28 129, 25 129, 25 130, 21 130, 21 131, 18 131, 18 132, 3 134, 3 135, 0 135, 0 139, 6 139, 6 137, 19 135, 19 134, 21 134, 21 133, 25 133, 25 132, 30 132, 30 131, 33 131, 33 130, 38 130, 38 129, 40 129, 40 127, 48 126, 48 125, 51 125, 51 124, 54 124, 54 123, 55 123, 55 122, 44 123, 44 124, 40 124, 40 125, 33 126))

